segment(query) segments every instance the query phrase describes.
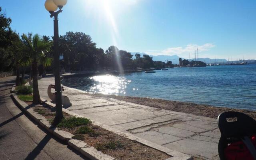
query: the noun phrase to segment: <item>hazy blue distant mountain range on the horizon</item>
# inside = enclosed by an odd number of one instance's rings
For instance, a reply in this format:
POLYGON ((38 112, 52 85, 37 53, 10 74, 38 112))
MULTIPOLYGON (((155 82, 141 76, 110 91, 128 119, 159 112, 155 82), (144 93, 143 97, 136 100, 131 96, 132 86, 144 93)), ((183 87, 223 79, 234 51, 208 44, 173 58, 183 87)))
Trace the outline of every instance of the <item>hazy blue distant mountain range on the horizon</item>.
MULTIPOLYGON (((141 53, 141 52, 131 52, 131 54, 133 55, 132 58, 135 59, 135 54, 140 54, 140 56, 142 57, 143 54, 146 53, 141 53)), ((167 55, 158 55, 158 56, 153 56, 153 55, 149 55, 151 57, 153 57, 152 59, 154 61, 162 61, 162 62, 166 62, 166 60, 168 61, 172 61, 172 64, 179 64, 179 57, 178 55, 173 55, 173 56, 167 56, 167 55)), ((182 58, 182 60, 184 60, 184 58, 182 58)), ((188 59, 189 61, 193 60, 193 59, 188 59)), ((197 60, 197 59, 196 59, 197 60)), ((222 63, 222 62, 228 62, 226 59, 211 59, 211 58, 198 58, 199 61, 205 62, 206 64, 209 63, 222 63)))

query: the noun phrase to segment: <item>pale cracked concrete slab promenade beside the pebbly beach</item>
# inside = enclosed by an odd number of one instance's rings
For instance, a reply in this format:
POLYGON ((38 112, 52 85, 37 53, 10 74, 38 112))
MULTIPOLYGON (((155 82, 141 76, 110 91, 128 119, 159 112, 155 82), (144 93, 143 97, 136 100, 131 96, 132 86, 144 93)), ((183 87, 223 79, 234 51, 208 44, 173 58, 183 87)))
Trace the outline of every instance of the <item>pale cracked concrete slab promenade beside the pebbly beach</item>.
MULTIPOLYGON (((40 95, 49 100, 47 87, 54 78, 39 80, 40 95)), ((145 140, 191 156, 218 160, 220 132, 216 119, 97 98, 64 86, 72 106, 67 109, 145 140)), ((191 108, 192 109, 192 108, 191 108)))

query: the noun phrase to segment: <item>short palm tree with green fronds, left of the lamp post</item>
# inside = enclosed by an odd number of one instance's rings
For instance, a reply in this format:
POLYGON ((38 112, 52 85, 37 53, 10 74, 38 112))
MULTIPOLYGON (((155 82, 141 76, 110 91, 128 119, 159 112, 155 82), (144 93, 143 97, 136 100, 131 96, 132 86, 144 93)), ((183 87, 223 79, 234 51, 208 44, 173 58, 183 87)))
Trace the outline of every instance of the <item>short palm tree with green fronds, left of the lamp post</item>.
POLYGON ((52 41, 46 41, 39 34, 35 34, 33 38, 28 38, 26 34, 22 35, 24 39, 20 46, 20 51, 24 53, 20 59, 20 63, 24 66, 32 66, 33 78, 33 104, 40 104, 40 94, 38 90, 38 64, 40 62, 44 66, 50 66, 52 58, 47 57, 48 52, 53 46, 52 41))

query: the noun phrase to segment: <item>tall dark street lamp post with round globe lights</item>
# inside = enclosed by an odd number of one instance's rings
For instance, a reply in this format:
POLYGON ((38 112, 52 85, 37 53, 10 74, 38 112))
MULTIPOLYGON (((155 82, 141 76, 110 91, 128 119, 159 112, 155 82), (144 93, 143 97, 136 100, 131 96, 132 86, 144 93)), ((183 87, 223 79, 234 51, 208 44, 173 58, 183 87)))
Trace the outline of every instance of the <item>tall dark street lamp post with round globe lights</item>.
POLYGON ((58 14, 62 12, 62 7, 67 3, 67 0, 46 0, 45 8, 50 12, 50 17, 54 17, 54 76, 55 76, 55 104, 56 116, 54 124, 58 124, 63 118, 62 114, 62 90, 60 86, 60 52, 59 52, 59 28, 58 14), (58 11, 56 11, 59 8, 58 11), (55 12, 56 11, 56 12, 55 12))

